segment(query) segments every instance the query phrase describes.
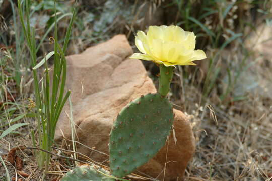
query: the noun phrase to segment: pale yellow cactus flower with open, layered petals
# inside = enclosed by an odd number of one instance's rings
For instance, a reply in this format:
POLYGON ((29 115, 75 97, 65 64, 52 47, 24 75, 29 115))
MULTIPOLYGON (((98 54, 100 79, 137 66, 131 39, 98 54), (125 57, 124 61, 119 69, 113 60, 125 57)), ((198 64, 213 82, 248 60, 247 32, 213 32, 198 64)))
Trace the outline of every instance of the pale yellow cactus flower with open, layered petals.
POLYGON ((196 65, 192 61, 207 58, 202 50, 194 50, 194 33, 174 25, 150 26, 147 35, 138 32, 135 45, 142 53, 134 53, 130 58, 165 66, 196 65))

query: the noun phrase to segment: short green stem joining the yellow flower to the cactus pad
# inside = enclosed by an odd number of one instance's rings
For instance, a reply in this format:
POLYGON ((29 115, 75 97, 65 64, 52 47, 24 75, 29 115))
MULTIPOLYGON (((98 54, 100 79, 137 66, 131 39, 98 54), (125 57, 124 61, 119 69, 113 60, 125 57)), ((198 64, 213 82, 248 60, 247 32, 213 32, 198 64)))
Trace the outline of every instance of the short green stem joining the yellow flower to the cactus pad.
POLYGON ((159 93, 162 96, 166 96, 170 89, 170 83, 173 78, 173 66, 166 67, 163 64, 160 65, 160 76, 159 76, 159 93))

